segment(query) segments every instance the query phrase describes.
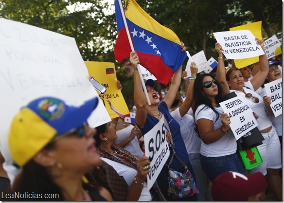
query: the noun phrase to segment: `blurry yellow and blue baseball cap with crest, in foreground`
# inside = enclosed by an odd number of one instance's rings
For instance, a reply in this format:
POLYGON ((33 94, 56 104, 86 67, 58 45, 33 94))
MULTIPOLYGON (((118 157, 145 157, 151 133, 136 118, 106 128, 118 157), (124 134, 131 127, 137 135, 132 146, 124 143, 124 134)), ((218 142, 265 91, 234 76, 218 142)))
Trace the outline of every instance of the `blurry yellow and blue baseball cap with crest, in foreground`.
POLYGON ((40 97, 21 108, 11 123, 8 135, 15 164, 24 166, 54 136, 82 126, 97 105, 98 97, 78 107, 59 98, 40 97))

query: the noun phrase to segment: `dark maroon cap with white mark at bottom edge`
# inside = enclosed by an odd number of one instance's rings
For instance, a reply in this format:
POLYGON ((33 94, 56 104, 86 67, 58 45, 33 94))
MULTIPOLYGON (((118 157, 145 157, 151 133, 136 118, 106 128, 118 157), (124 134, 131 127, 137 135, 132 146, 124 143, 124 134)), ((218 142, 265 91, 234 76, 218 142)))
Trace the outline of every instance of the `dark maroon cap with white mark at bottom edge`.
POLYGON ((214 201, 247 201, 248 197, 263 192, 266 179, 261 172, 247 176, 237 172, 218 175, 212 183, 214 201))

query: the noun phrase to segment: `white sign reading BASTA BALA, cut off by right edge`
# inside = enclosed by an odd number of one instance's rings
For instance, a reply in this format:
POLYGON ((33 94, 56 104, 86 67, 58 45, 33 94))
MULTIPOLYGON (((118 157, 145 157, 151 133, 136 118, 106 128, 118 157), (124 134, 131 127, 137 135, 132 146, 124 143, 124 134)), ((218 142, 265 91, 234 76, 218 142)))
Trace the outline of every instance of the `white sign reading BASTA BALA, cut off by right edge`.
POLYGON ((271 98, 270 107, 277 117, 282 114, 282 77, 264 85, 267 96, 271 98))

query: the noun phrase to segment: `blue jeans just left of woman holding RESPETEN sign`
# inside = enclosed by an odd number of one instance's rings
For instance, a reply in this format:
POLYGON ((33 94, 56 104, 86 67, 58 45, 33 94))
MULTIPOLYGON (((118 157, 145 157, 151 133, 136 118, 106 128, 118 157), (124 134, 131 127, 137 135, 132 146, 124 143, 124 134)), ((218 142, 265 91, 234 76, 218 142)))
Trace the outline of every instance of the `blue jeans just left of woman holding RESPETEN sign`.
POLYGON ((191 153, 188 154, 188 156, 195 173, 195 183, 199 190, 199 193, 197 194, 197 201, 213 201, 211 196, 210 180, 200 164, 200 153, 191 153))

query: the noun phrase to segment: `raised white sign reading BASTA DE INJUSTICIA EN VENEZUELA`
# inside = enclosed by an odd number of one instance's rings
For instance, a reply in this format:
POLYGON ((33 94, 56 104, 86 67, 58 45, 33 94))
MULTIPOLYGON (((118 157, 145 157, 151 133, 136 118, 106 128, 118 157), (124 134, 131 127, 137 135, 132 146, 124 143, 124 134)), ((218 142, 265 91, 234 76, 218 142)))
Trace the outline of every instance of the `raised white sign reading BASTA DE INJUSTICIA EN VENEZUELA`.
POLYGON ((260 45, 250 30, 237 30, 213 33, 223 48, 223 54, 229 59, 243 59, 263 55, 260 45))

